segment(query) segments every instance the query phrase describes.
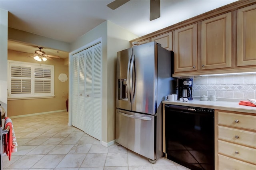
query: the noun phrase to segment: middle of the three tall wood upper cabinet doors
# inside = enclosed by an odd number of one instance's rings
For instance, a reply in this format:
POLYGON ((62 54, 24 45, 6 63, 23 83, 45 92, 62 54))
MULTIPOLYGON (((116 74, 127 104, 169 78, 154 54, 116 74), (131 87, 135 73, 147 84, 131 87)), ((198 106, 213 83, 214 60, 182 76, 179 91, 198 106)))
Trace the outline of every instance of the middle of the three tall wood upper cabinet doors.
POLYGON ((231 12, 202 21, 201 69, 231 67, 231 12))

